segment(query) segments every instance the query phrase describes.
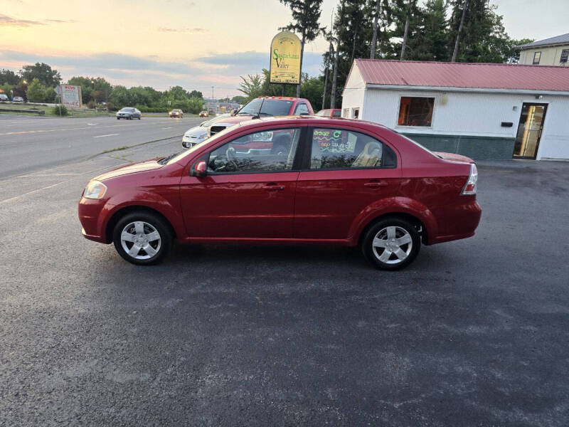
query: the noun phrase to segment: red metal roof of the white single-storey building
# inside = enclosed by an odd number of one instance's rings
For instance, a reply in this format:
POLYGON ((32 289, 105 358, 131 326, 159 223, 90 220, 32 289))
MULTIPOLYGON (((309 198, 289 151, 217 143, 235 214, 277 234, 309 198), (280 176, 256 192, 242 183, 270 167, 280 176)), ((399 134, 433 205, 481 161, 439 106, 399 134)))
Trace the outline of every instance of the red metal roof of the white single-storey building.
POLYGON ((569 92, 569 67, 381 59, 355 63, 363 80, 372 85, 569 92))

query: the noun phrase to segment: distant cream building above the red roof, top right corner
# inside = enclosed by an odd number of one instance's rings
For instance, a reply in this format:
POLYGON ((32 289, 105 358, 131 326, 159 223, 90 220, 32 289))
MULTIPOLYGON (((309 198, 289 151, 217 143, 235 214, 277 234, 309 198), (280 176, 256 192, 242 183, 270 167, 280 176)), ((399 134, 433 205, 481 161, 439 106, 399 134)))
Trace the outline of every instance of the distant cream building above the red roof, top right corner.
POLYGON ((533 41, 519 48, 521 64, 569 66, 569 33, 533 41))

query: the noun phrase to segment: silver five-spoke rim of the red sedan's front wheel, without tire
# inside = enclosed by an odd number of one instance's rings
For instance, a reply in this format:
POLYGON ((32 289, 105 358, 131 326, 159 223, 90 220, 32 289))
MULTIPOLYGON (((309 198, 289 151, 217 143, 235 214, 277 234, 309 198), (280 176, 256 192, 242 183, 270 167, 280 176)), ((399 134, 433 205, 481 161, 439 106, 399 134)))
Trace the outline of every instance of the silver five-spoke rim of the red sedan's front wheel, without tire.
POLYGON ((129 256, 148 260, 160 251, 161 237, 156 227, 144 221, 128 223, 120 233, 120 244, 129 256))

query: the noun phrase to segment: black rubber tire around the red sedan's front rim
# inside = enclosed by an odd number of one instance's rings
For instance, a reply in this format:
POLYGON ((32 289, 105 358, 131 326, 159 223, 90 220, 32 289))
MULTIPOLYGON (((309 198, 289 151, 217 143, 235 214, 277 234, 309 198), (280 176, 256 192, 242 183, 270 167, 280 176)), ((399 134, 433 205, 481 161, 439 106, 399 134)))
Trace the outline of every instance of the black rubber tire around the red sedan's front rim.
MULTIPOLYGON (((134 228, 134 226, 132 227, 134 228)), ((133 230, 134 231, 134 230, 133 230)), ((136 231, 134 231, 136 233, 136 231)), ((164 221, 161 217, 156 214, 152 214, 151 212, 132 212, 131 214, 127 214, 120 218, 120 220, 115 225, 115 228, 112 232, 112 243, 115 244, 115 249, 122 256, 124 260, 127 260, 129 263, 136 264, 136 265, 151 265, 156 264, 164 260, 166 255, 170 253, 172 248, 172 232, 171 228, 168 223, 164 221), (121 234, 125 227, 129 226, 129 224, 134 222, 143 222, 144 224, 144 232, 152 231, 151 228, 154 228, 155 231, 159 233, 159 245, 156 241, 151 241, 149 244, 153 246, 157 251, 154 255, 150 256, 150 258, 141 259, 141 258, 134 258, 132 255, 129 255, 127 251, 124 250, 122 246, 122 239, 121 234), (149 227, 150 226, 150 227, 149 227)), ((132 248, 135 242, 127 242, 125 246, 127 248, 132 248), (129 246, 129 243, 132 243, 129 246)), ((139 251, 139 256, 149 256, 149 254, 144 251, 144 246, 140 246, 141 250, 139 251)))

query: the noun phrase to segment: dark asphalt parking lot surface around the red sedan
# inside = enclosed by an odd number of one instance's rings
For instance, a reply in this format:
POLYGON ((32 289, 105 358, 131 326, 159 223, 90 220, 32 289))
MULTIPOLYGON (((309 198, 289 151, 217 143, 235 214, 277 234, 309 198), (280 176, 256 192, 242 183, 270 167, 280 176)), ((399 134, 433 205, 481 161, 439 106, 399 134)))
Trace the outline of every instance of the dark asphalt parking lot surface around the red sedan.
POLYGON ((479 162, 477 235, 394 273, 297 246, 141 268, 81 236, 88 179, 180 148, 0 179, 0 426, 568 425, 569 162, 479 162))

